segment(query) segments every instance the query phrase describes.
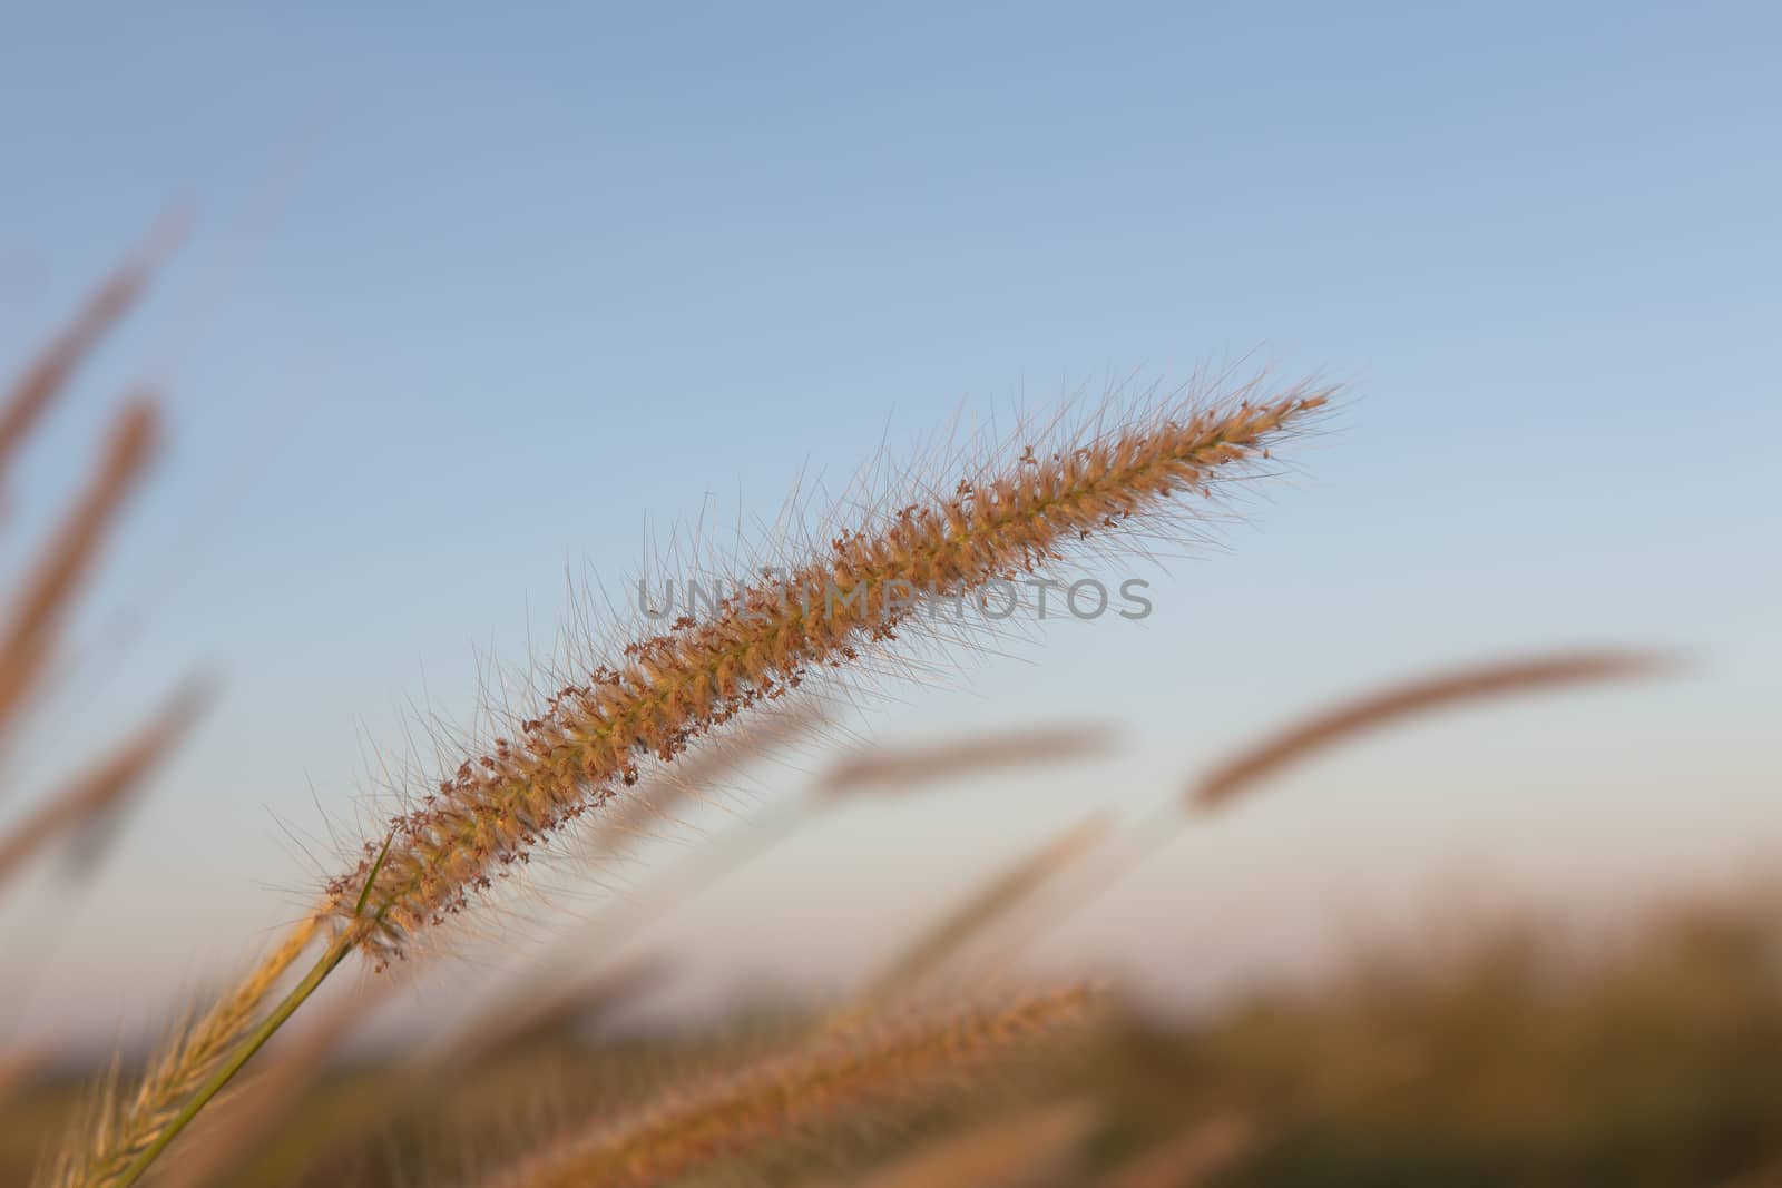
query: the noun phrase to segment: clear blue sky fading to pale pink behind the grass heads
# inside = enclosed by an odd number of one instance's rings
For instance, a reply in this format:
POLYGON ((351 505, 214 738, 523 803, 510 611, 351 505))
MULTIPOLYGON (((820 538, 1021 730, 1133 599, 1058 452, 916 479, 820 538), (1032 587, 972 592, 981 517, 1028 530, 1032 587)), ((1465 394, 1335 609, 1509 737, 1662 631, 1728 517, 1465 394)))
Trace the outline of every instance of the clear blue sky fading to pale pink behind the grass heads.
MULTIPOLYGON (((0 910, 59 955, 32 1010, 146 1010, 118 969, 237 955, 312 878, 292 832, 347 819, 405 705, 463 718, 476 648, 547 638, 565 566, 624 579, 647 529, 772 515, 960 401, 1246 356, 1353 394, 1224 550, 1155 575, 1144 625, 875 720, 1112 716, 1119 773, 839 823, 684 924, 715 964, 752 969, 723 937, 818 880, 957 887, 1322 696, 1547 643, 1702 666, 1363 748, 1201 864, 1296 939, 1283 855, 1320 901, 1461 858, 1606 898, 1752 862, 1782 832, 1778 36, 1770 5, 9 9, 5 358, 198 210, 18 479, 29 534, 109 395, 166 387, 169 456, 84 616, 102 654, 143 627, 18 778, 225 679, 78 926, 0 910), (135 940, 169 915, 184 942, 135 940)), ((1158 866, 1126 908, 1203 901, 1158 866)), ((884 887, 857 882, 836 901, 884 887)))

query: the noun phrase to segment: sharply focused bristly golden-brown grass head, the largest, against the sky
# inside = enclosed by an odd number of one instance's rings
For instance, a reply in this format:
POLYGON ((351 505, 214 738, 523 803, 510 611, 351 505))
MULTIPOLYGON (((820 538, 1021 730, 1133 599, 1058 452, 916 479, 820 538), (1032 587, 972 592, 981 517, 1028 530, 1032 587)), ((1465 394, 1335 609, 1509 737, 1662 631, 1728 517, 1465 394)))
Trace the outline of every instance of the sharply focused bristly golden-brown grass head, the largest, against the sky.
POLYGON ((558 688, 510 737, 465 759, 367 841, 358 869, 330 885, 331 912, 380 958, 401 953, 649 768, 921 632, 923 598, 971 598, 1105 540, 1173 525, 1194 534, 1205 522, 1194 502, 1253 472, 1328 395, 1294 387, 1255 399, 1249 385, 1221 401, 1123 415, 866 515, 558 688))

